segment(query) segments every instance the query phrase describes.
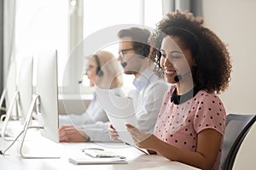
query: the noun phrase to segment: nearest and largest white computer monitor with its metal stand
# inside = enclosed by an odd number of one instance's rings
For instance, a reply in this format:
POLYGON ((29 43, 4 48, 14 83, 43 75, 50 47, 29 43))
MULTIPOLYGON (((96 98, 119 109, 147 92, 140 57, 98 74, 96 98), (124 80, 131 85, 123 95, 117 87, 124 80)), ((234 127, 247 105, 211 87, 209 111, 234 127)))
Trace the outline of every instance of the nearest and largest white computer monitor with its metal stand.
POLYGON ((24 156, 22 153, 26 131, 30 127, 34 107, 37 110, 38 127, 41 127, 41 134, 48 139, 59 142, 57 51, 41 53, 35 60, 38 61, 36 90, 32 96, 32 103, 26 116, 24 133, 20 140, 19 148, 20 156, 25 158, 41 158, 40 156, 24 156))

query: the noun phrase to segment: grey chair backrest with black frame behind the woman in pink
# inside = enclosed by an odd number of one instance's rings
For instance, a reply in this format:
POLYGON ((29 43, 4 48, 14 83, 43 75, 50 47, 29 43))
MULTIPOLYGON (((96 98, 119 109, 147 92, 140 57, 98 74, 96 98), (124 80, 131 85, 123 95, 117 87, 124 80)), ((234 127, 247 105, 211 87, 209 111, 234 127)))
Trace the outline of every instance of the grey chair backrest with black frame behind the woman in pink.
POLYGON ((236 154, 243 139, 256 120, 256 115, 229 114, 224 133, 224 146, 220 166, 223 170, 231 170, 236 160, 236 154))

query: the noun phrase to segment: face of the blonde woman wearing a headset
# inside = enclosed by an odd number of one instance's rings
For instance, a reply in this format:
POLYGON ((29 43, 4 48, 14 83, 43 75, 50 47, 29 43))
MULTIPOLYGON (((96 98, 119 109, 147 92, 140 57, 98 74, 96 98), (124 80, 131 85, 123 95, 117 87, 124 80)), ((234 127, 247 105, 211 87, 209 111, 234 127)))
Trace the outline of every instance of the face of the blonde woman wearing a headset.
POLYGON ((94 58, 90 58, 87 65, 86 65, 86 71, 85 75, 90 80, 90 86, 95 86, 97 74, 96 74, 96 60, 94 58))

